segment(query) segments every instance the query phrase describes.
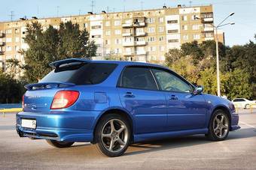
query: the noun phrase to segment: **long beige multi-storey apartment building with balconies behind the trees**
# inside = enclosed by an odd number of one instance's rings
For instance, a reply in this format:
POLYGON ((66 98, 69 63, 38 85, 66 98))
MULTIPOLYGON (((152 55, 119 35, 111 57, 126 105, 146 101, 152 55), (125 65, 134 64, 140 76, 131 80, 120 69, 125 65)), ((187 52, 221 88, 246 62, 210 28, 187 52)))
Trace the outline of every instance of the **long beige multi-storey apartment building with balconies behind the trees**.
MULTIPOLYGON (((182 43, 197 40, 214 40, 212 5, 194 7, 166 7, 154 10, 138 10, 116 13, 88 13, 79 16, 63 16, 37 19, 20 19, 0 22, 0 67, 5 61, 17 58, 24 62, 20 49, 24 43, 26 24, 40 22, 43 29, 49 25, 59 27, 60 22, 78 23, 86 28, 90 40, 98 46, 93 59, 114 56, 130 61, 165 61, 169 49, 180 48, 182 43), (200 18, 200 19, 199 19, 200 18)), ((221 40, 220 40, 221 41, 221 40)))

